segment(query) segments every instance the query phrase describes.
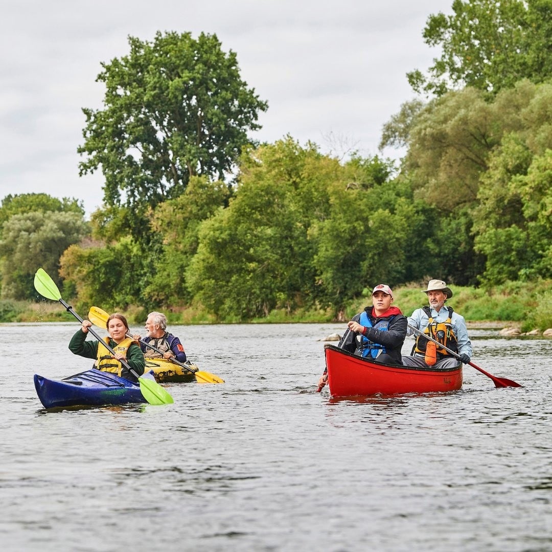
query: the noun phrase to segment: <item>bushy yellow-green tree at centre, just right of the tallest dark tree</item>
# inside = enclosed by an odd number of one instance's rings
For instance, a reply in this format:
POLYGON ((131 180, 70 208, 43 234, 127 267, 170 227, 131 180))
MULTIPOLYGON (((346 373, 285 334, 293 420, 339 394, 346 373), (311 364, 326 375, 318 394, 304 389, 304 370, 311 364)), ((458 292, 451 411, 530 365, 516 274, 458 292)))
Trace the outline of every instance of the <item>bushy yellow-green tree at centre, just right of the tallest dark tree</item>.
POLYGON ((236 195, 203 222, 186 271, 194 298, 221 319, 247 320, 313 301, 312 221, 328 212, 339 163, 289 136, 248 151, 236 195))

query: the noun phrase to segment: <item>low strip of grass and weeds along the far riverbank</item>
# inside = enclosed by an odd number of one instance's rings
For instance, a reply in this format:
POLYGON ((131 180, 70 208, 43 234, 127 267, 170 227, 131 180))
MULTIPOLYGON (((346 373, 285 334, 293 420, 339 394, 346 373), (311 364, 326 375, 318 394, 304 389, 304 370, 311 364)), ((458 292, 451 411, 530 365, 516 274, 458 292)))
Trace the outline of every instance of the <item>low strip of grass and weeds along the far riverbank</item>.
MULTIPOLYGON (((454 295, 447 304, 464 316, 470 327, 511 327, 521 333, 534 332, 540 335, 552 328, 552 280, 537 283, 508 282, 493 288, 475 288, 450 284, 454 295)), ((394 289, 394 305, 408 316, 415 309, 427 304, 426 294, 421 293, 423 283, 412 283, 394 289)), ((213 314, 195 305, 186 309, 164 309, 172 325, 209 323, 328 323, 345 322, 354 314, 371 304, 370 290, 363 296, 350 301, 341 311, 330 309, 305 309, 288 312, 274 310, 263 318, 248 321, 235 320, 231 316, 215 318, 213 314)), ((86 316, 92 305, 78 305, 75 308, 86 316)), ((102 307, 102 305, 95 305, 102 307)), ((124 314, 133 325, 142 325, 146 310, 137 305, 124 309, 124 314)), ((52 301, 0 301, 0 322, 60 322, 72 321, 71 315, 52 301)))

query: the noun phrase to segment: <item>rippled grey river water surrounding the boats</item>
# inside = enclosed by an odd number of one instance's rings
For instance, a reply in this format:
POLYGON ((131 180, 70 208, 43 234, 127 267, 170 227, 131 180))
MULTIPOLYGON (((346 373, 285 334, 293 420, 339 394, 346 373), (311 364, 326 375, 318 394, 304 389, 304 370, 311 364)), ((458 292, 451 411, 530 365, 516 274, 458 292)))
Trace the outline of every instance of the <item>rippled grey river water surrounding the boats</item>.
POLYGON ((48 412, 33 374, 91 367, 78 323, 0 325, 1 549, 552 550, 552 339, 470 331, 523 388, 466 366, 453 394, 332 400, 319 339, 343 328, 172 326, 225 384, 48 412))

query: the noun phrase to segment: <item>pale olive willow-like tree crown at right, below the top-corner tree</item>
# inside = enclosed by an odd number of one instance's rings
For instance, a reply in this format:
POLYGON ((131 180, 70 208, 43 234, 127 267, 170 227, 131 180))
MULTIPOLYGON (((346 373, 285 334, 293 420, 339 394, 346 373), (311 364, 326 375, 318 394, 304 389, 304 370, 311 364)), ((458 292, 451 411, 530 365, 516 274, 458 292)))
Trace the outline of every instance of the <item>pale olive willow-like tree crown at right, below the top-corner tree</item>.
MULTIPOLYGON (((473 87, 434 99, 408 123, 404 175, 425 199, 451 213, 477 199, 481 176, 501 140, 517 132, 535 152, 550 147, 549 84, 527 79, 491 101, 473 87)), ((394 123, 390 123, 392 125, 394 123)))

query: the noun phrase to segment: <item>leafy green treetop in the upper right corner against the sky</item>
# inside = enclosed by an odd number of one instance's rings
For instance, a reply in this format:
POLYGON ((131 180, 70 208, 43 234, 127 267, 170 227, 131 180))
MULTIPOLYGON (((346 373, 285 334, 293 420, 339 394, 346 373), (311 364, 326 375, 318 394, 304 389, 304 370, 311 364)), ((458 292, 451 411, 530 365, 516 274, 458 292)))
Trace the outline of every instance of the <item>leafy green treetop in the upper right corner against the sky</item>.
POLYGON ((524 77, 552 76, 552 0, 454 0, 452 12, 427 20, 424 41, 442 53, 427 75, 407 74, 416 92, 472 86, 497 93, 524 77))

